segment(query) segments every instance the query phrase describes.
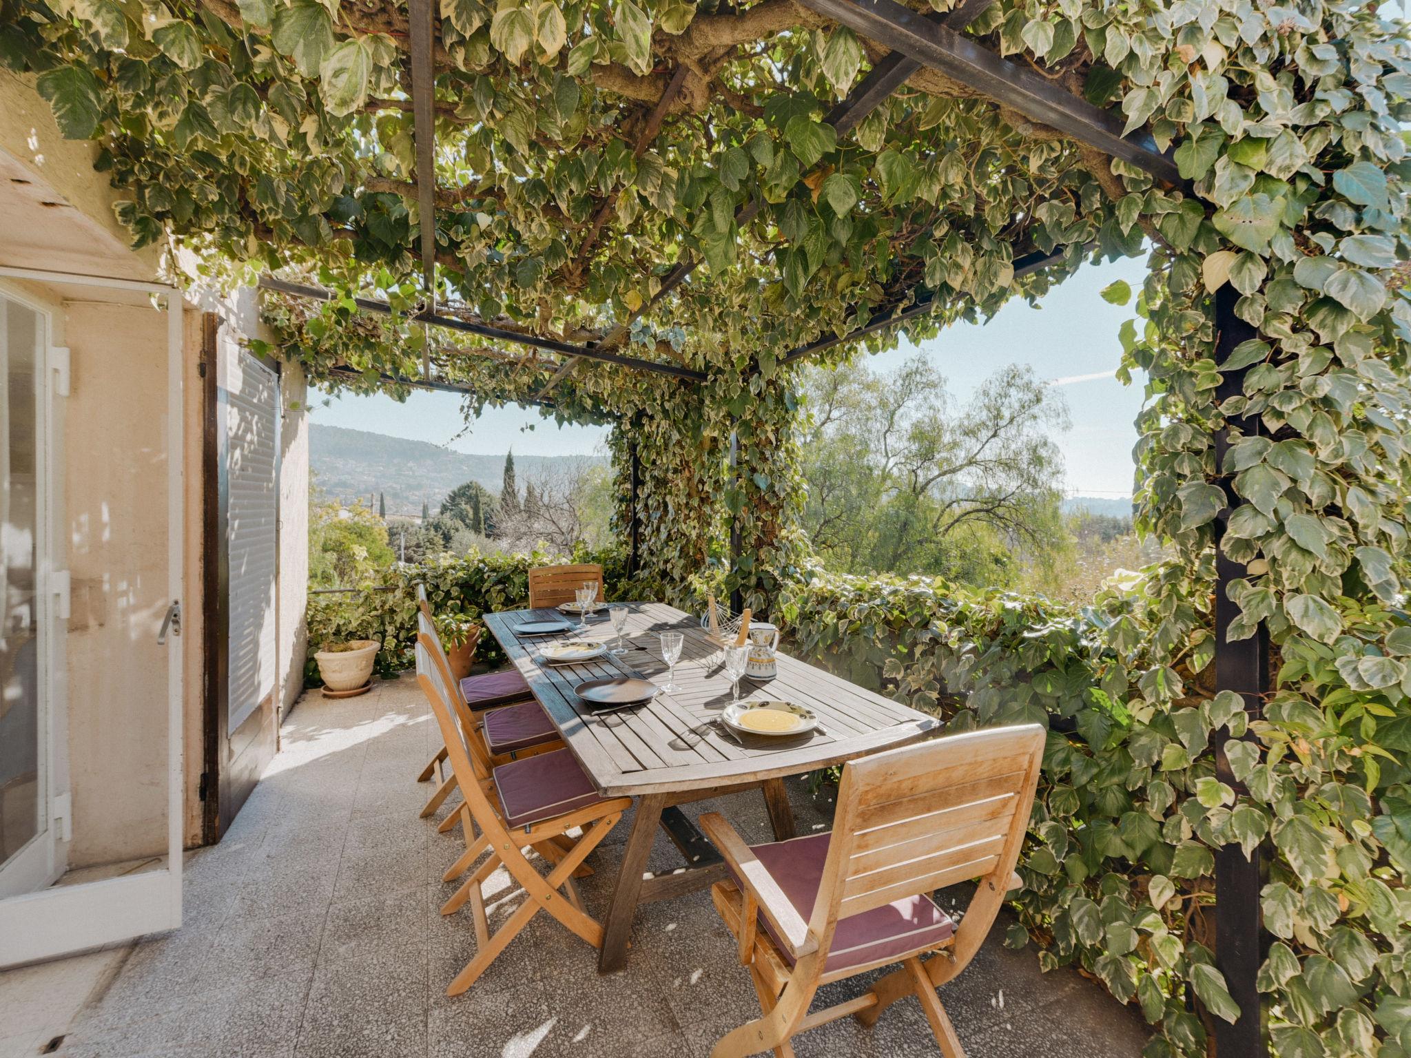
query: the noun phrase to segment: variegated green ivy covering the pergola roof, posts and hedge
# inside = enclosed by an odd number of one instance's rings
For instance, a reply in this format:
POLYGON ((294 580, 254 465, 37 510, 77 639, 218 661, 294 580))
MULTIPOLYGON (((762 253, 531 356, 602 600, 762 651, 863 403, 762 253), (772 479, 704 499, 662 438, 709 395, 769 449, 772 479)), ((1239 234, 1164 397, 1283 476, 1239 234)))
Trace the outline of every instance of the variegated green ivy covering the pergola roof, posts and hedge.
POLYGON ((885 49, 793 0, 443 0, 435 174, 413 161, 401 4, 0 0, 0 62, 34 78, 65 134, 97 140, 134 241, 181 243, 213 275, 285 268, 337 291, 270 306, 278 350, 315 381, 398 391, 425 350, 470 391, 467 413, 542 399, 614 420, 619 468, 629 427, 643 560, 676 584, 711 563, 756 601, 810 583, 787 350, 934 298, 816 357, 842 363, 1037 299, 1088 257, 1149 254, 1141 289, 1109 296, 1137 308, 1120 337, 1123 374, 1147 379, 1140 522, 1178 561, 1077 616, 983 600, 958 625, 948 604, 896 612, 886 600, 912 588, 862 583, 848 591, 882 609, 849 597, 868 619, 848 635, 880 636, 869 656, 917 695, 907 681, 930 670, 909 667, 913 640, 933 629, 975 677, 952 688, 957 722, 1075 718, 1051 728, 1024 921, 1050 958, 1084 951, 1141 1002, 1161 1030, 1151 1055, 1195 1054, 1212 1019, 1237 1014, 1199 938, 1171 928, 1232 842, 1273 852, 1260 987, 1276 1051, 1405 1055, 1405 30, 1350 0, 999 0, 968 34, 1174 147, 1181 185, 927 69, 840 135, 828 107, 885 49), (435 291, 412 278, 425 179, 435 291), (1055 257, 1016 278, 1031 251, 1055 257), (1222 289, 1233 319, 1218 319, 1222 289), (395 315, 356 312, 354 291, 395 315), (704 381, 498 343, 426 350, 412 315, 433 293, 443 312, 704 381), (1243 329, 1223 363, 1218 326, 1243 329), (1216 533, 1245 564, 1230 635, 1263 625, 1273 643, 1253 719, 1209 680, 1216 533), (1002 663, 1010 645, 1023 667, 1002 663), (1219 731, 1237 787, 1205 752, 1219 731))

